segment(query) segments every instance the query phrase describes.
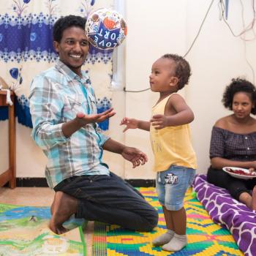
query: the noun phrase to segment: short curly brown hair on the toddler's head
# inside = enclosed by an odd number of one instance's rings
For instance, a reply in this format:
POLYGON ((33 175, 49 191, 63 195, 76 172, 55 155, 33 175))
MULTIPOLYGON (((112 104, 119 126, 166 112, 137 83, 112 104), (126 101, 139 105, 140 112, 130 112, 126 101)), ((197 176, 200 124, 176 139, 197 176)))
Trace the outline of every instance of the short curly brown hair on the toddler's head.
POLYGON ((178 78, 178 90, 182 89, 187 83, 189 83, 189 77, 191 75, 191 69, 189 63, 181 56, 177 54, 165 54, 162 56, 164 59, 173 60, 176 64, 175 76, 178 78))

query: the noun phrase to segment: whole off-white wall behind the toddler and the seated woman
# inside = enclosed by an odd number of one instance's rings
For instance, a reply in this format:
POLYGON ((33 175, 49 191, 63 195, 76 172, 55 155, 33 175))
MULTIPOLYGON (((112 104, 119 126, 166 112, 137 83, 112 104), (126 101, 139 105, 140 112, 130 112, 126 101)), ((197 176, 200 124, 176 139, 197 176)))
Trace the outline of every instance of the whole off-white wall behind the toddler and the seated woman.
MULTIPOLYGON (((252 1, 233 0, 227 22, 238 34, 243 30, 241 16, 244 8, 244 21, 247 26, 253 18, 252 1)), ((252 70, 246 63, 244 41, 233 37, 223 20, 219 20, 219 1, 214 1, 208 17, 201 29, 194 47, 187 55, 192 67, 189 86, 183 94, 195 112, 192 123, 192 140, 197 153, 197 173, 206 173, 209 165, 209 143, 211 127, 218 118, 230 113, 222 106, 222 93, 231 78, 243 76, 253 80, 252 70)), ((127 1, 127 88, 146 89, 152 62, 163 53, 178 53, 184 56, 192 44, 206 15, 211 0, 195 1, 127 1)), ((252 31, 246 38, 252 38, 252 31)), ((256 67, 255 40, 246 42, 246 56, 252 67, 256 67)), ((127 93, 126 115, 136 118, 149 118, 151 106, 158 95, 152 92, 127 93)), ((126 177, 154 177, 151 172, 152 154, 145 132, 129 131, 126 141, 137 144, 151 157, 150 165, 140 168, 134 175, 128 170, 126 177), (144 170, 144 171, 143 171, 144 170)))

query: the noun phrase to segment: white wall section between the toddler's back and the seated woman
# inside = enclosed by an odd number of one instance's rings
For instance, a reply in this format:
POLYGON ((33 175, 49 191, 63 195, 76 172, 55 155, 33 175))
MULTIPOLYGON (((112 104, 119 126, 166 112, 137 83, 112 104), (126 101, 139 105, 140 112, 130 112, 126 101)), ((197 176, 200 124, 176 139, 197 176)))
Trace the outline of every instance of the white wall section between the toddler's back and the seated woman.
MULTIPOLYGON (((187 1, 187 48, 197 34, 210 0, 187 1)), ((224 21, 219 20, 218 1, 214 1, 200 36, 187 59, 192 66, 192 77, 186 89, 187 102, 195 112, 192 123, 192 137, 197 153, 198 172, 205 173, 209 165, 208 150, 211 127, 218 118, 230 114, 222 103, 222 94, 231 78, 243 76, 252 83, 252 70, 246 63, 244 41, 233 37, 224 21)), ((246 25, 252 21, 252 1, 244 4, 246 25)), ((227 22, 238 34, 243 30, 241 4, 239 0, 230 1, 227 22)), ((252 33, 247 33, 252 38, 252 33)), ((247 58, 256 67, 256 41, 246 43, 247 58)))

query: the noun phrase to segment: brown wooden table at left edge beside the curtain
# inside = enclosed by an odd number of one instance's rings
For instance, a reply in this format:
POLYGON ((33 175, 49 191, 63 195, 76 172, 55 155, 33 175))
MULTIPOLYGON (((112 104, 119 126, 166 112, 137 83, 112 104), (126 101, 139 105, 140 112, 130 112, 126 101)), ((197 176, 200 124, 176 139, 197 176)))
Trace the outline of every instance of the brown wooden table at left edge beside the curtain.
MULTIPOLYGON (((15 94, 11 91, 11 99, 13 105, 10 106, 6 103, 7 92, 0 90, 0 107, 8 106, 9 116, 9 167, 4 173, 0 174, 0 187, 9 182, 9 187, 15 189, 16 187, 16 139, 15 139, 15 111, 14 99, 15 94)), ((1 170, 0 170, 1 171, 1 170)))

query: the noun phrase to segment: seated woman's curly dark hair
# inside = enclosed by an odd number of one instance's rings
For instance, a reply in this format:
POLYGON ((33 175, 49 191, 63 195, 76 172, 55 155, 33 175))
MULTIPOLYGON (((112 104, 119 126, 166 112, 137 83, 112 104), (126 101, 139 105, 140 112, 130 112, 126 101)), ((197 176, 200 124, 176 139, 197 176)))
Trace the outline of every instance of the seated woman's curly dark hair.
MULTIPOLYGON (((245 92, 248 94, 250 99, 252 100, 252 103, 256 103, 256 89, 255 86, 242 78, 233 78, 231 80, 231 83, 226 87, 223 97, 222 97, 222 103, 225 108, 232 110, 232 103, 233 103, 233 97, 237 92, 245 92)), ((252 114, 256 114, 256 108, 252 108, 251 111, 252 114)))

